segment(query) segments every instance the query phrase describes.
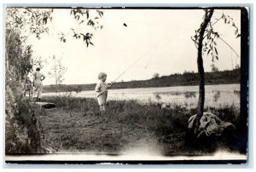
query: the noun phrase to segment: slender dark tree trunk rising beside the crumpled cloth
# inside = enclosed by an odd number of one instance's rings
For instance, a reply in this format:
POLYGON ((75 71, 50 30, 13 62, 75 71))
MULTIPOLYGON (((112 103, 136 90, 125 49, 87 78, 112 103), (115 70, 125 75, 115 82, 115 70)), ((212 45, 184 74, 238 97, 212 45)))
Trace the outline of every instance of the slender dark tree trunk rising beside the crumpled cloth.
POLYGON ((203 115, 204 103, 205 103, 205 72, 204 72, 203 59, 202 59, 202 47, 203 47, 202 43, 204 39, 204 33, 207 29, 209 22, 211 21, 213 11, 214 9, 205 10, 205 17, 203 22, 201 23, 199 38, 198 38, 197 67, 198 67, 198 72, 200 76, 200 84, 199 84, 199 100, 198 100, 198 106, 197 106, 197 116, 195 118, 195 123, 194 123, 195 135, 197 135, 198 133, 199 121, 201 119, 201 116, 203 115))

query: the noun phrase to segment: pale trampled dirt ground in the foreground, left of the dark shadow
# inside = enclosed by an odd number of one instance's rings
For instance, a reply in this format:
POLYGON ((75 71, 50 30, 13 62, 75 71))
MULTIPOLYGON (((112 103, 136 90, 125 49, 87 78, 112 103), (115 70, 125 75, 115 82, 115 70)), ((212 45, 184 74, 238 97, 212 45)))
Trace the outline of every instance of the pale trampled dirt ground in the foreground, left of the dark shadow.
POLYGON ((38 116, 44 147, 55 153, 95 152, 108 155, 162 154, 158 138, 137 123, 119 123, 93 112, 45 109, 38 116))

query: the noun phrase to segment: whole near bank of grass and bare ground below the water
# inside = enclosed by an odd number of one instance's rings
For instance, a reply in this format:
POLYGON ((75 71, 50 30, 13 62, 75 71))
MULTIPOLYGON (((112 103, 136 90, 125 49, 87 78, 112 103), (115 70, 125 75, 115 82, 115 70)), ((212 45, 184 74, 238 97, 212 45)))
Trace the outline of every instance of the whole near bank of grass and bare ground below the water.
MULTIPOLYGON (((172 105, 167 110, 154 103, 141 105, 134 100, 110 100, 108 111, 101 114, 94 99, 44 97, 44 101, 54 102, 57 106, 38 117, 44 128, 42 135, 49 140, 46 144, 56 152, 120 153, 138 140, 146 140, 147 146, 150 138, 154 138, 163 155, 240 150, 237 131, 196 139, 188 129, 189 117, 195 114, 195 109, 172 105)), ((239 129, 240 112, 235 106, 207 109, 239 129)))

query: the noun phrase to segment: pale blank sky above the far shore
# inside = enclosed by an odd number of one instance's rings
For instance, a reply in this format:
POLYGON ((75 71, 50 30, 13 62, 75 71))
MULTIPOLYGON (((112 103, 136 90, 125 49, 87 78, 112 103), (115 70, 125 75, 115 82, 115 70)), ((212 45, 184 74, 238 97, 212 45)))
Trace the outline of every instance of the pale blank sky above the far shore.
MULTIPOLYGON (((115 80, 131 64, 119 81, 152 78, 184 71, 197 72, 197 49, 191 40, 195 30, 201 25, 202 9, 103 9, 99 19, 103 29, 93 30, 81 24, 70 15, 70 9, 55 9, 49 24, 49 34, 41 39, 29 37, 34 57, 48 59, 55 55, 62 58, 67 72, 63 83, 96 83, 99 72, 108 74, 107 82, 115 80), (124 23, 127 26, 124 26, 124 23), (93 32, 94 46, 86 47, 81 40, 73 38, 71 28, 77 32, 93 32), (58 33, 67 35, 67 42, 61 43, 58 33)), ((230 15, 241 28, 240 10, 215 10, 212 22, 224 12, 230 15)), ((94 15, 94 10, 90 9, 94 15)), ((220 20, 213 29, 240 55, 240 37, 236 38, 235 28, 220 20)), ((222 41, 217 40, 218 59, 214 62, 219 70, 231 70, 240 65, 237 57, 222 41)), ((203 56, 205 71, 211 71, 212 58, 203 56)), ((44 64, 42 72, 46 75, 44 84, 54 84, 48 72, 52 62, 44 64)))

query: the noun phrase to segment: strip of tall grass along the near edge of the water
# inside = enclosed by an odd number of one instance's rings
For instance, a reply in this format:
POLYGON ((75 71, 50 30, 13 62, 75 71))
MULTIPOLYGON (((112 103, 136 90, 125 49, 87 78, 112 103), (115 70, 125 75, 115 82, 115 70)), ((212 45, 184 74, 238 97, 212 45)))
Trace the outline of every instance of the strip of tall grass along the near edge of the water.
MULTIPOLYGON (((43 100, 53 102, 67 111, 101 115, 96 99, 49 96, 43 100)), ((216 114, 224 121, 239 124, 240 112, 236 106, 207 107, 206 111, 216 114)), ((189 117, 195 113, 196 109, 187 109, 175 103, 170 109, 161 109, 160 105, 154 102, 139 104, 136 100, 109 100, 104 116, 116 123, 135 124, 150 129, 157 135, 170 135, 187 132, 189 117)))

